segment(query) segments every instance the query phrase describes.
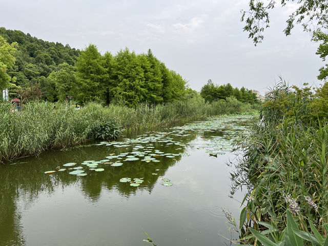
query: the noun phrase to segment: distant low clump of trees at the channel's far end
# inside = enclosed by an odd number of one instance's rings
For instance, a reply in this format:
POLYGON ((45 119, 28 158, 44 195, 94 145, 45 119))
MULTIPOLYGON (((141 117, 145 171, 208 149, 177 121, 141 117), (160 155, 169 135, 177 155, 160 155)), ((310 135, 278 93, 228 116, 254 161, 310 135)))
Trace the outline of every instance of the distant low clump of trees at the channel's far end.
POLYGON ((244 87, 239 90, 237 87, 233 88, 229 83, 220 86, 214 85, 211 79, 201 88, 200 95, 209 103, 220 99, 226 99, 230 96, 234 96, 243 103, 254 104, 258 102, 256 94, 251 90, 245 89, 244 87))

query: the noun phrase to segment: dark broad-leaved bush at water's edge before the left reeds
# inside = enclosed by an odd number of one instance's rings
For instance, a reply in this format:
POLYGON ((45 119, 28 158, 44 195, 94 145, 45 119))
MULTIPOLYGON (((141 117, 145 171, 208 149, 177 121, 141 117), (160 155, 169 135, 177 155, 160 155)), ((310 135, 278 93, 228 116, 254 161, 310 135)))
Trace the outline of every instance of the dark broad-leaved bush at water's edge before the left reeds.
POLYGON ((120 126, 116 125, 115 122, 101 122, 98 126, 93 129, 94 136, 96 139, 111 140, 118 138, 122 131, 120 126))

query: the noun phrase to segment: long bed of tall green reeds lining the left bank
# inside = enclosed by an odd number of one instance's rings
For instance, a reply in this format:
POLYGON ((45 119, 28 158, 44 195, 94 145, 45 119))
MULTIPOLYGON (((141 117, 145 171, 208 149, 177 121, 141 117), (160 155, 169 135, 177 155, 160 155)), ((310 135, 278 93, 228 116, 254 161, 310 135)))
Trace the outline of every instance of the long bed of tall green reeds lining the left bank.
POLYGON ((140 105, 136 109, 96 103, 80 110, 65 104, 57 104, 53 109, 52 103, 38 101, 27 103, 23 111, 12 112, 11 107, 10 103, 0 103, 0 161, 81 144, 93 139, 99 125, 108 122, 128 133, 185 124, 213 115, 254 111, 249 104, 233 97, 213 104, 189 98, 156 107, 140 105))

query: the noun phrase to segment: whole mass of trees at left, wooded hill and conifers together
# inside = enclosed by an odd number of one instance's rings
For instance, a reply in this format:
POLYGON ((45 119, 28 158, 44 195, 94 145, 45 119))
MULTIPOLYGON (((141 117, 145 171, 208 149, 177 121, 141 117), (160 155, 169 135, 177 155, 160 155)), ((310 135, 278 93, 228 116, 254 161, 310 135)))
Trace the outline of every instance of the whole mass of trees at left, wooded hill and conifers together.
POLYGON ((7 40, 6 54, 12 57, 6 58, 7 67, 2 69, 7 82, 16 78, 10 88, 12 97, 33 94, 31 88, 37 88, 34 97, 50 101, 72 95, 79 103, 100 100, 136 107, 179 100, 186 94, 187 81, 169 70, 151 50, 135 54, 126 48, 115 55, 102 55, 95 45, 79 51, 5 28, 0 28, 0 37, 3 42, 7 40), (14 42, 18 44, 15 54, 14 42))

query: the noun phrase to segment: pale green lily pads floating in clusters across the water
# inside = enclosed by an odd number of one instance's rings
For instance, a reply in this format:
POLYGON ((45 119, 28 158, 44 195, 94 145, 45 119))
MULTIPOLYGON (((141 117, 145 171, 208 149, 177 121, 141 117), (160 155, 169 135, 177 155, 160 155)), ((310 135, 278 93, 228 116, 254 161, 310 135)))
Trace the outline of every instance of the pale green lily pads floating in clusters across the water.
MULTIPOLYGON (((134 161, 145 161, 145 162, 160 162, 159 157, 172 158, 175 160, 176 156, 190 156, 187 152, 184 152, 186 144, 182 140, 174 140, 174 137, 178 136, 185 138, 190 133, 198 132, 200 134, 204 132, 217 132, 221 131, 221 136, 201 136, 196 141, 197 149, 204 149, 211 156, 222 155, 227 152, 232 151, 232 146, 234 144, 234 136, 237 131, 245 131, 242 123, 243 120, 249 120, 243 117, 226 117, 226 118, 216 118, 209 121, 194 122, 193 124, 187 124, 182 127, 173 127, 167 132, 155 132, 151 134, 142 134, 136 138, 123 138, 121 141, 107 142, 103 141, 97 144, 97 146, 111 146, 116 151, 106 156, 106 159, 95 161, 95 160, 85 160, 81 162, 81 166, 74 167, 77 165, 76 162, 69 162, 63 165, 63 168, 57 167, 58 172, 68 171, 71 175, 76 176, 87 176, 86 169, 88 171, 103 172, 105 171, 105 166, 110 165, 112 167, 120 167, 124 165, 124 162, 134 162, 134 161), (232 124, 233 122, 233 124, 232 124), (179 153, 165 153, 155 148, 155 145, 160 145, 163 147, 173 147, 179 153), (176 147, 176 148, 175 148, 176 147), (131 152, 118 153, 119 149, 132 148, 131 152), (101 168, 98 166, 101 165, 101 168)), ((247 124, 243 124, 247 125, 247 124)), ((156 169, 155 171, 159 171, 156 169)), ((46 174, 52 174, 56 171, 47 171, 46 174)), ((152 173, 152 175, 158 175, 157 173, 152 173)), ((161 185, 169 187, 173 184, 169 179, 163 178, 161 185)), ((121 178, 120 182, 130 182, 130 186, 137 187, 142 182, 143 178, 121 178)))

